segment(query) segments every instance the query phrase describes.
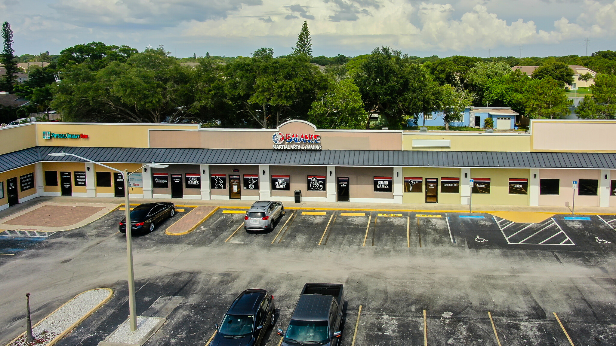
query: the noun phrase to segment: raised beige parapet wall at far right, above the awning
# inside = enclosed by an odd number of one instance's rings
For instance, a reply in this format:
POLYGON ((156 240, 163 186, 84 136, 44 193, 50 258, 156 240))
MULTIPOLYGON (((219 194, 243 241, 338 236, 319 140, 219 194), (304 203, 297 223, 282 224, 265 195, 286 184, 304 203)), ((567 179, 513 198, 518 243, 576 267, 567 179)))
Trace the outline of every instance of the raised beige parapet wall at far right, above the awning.
POLYGON ((616 120, 532 120, 530 126, 532 151, 616 151, 616 120))

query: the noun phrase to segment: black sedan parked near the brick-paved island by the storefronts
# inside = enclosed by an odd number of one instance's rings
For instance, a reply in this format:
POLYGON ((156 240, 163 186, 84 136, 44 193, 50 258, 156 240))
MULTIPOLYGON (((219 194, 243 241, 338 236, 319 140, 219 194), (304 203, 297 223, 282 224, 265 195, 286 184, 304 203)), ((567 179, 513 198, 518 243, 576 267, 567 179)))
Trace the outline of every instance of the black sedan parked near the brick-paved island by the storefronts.
MULTIPOLYGON (((169 202, 144 203, 131 211, 131 231, 153 231, 164 219, 176 215, 176 205, 169 202)), ((120 221, 120 231, 126 233, 126 217, 120 221)))

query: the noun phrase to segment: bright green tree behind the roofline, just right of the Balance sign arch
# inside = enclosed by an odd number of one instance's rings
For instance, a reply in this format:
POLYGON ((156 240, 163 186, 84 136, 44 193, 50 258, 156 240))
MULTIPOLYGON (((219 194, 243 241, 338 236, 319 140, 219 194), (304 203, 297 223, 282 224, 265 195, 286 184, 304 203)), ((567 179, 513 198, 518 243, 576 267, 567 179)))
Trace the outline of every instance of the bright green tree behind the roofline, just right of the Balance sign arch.
POLYGON ((320 129, 360 129, 367 113, 362 95, 352 79, 328 81, 328 88, 317 94, 308 112, 308 121, 320 129))

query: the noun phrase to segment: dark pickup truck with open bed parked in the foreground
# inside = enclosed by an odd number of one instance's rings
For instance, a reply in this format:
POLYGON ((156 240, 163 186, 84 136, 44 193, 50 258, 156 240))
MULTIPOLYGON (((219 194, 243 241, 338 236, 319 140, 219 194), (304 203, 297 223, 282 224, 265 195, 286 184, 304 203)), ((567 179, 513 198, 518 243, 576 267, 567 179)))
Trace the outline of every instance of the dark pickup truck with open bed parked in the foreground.
POLYGON ((342 284, 305 284, 286 332, 277 330, 282 346, 338 345, 342 305, 342 284))

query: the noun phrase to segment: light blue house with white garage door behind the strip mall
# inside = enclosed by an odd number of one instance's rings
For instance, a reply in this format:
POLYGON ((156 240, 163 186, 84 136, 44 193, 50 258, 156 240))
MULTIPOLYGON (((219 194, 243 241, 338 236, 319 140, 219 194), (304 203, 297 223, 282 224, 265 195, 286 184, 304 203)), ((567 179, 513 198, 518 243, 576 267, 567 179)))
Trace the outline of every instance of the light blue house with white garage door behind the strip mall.
MULTIPOLYGON (((464 110, 460 121, 450 122, 449 126, 484 127, 485 118, 492 118, 495 129, 509 130, 515 128, 518 115, 516 111, 511 110, 509 107, 472 107, 464 110)), ((426 116, 426 126, 445 126, 443 116, 442 111, 436 111, 426 116)), ((417 121, 419 127, 424 125, 423 121, 423 115, 419 115, 417 121)), ((409 126, 413 125, 412 119, 408 124, 409 126)))

